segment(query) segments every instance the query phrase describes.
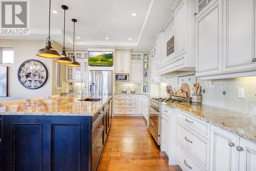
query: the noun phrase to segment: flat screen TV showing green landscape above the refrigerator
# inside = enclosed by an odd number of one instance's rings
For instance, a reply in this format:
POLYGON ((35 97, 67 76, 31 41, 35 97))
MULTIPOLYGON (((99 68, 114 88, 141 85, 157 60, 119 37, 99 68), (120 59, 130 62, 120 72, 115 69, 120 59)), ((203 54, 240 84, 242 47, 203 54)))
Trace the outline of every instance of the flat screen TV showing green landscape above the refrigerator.
POLYGON ((89 66, 113 66, 113 52, 89 51, 89 66))

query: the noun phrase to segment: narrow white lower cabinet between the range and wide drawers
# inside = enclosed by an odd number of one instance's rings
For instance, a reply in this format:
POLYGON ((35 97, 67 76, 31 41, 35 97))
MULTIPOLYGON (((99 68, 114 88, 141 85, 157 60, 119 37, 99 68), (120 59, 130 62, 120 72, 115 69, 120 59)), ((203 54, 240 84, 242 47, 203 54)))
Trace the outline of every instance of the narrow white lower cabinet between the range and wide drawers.
MULTIPOLYGON (((162 106, 164 108, 164 106, 162 106)), ((161 151, 164 151, 169 156, 169 132, 170 132, 170 113, 162 111, 162 129, 161 129, 161 151)))

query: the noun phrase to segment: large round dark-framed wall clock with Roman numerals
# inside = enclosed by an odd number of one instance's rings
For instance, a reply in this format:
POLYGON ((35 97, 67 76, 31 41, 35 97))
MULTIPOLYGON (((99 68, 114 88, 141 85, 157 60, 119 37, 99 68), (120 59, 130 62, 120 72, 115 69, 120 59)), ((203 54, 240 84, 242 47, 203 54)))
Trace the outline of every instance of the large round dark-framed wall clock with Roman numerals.
POLYGON ((26 60, 19 66, 18 80, 27 89, 38 89, 46 83, 48 71, 38 60, 26 60))

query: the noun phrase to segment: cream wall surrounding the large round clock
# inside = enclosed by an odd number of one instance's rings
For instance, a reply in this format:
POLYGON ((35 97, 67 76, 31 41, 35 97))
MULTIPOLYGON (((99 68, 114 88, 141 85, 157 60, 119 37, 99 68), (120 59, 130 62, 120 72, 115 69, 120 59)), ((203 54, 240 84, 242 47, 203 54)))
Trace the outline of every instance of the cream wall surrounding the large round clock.
POLYGON ((48 96, 52 94, 53 60, 36 56, 37 51, 45 46, 45 40, 0 39, 1 48, 14 48, 14 63, 9 66, 9 97, 0 97, 0 102, 37 96, 48 98, 48 96), (26 89, 18 81, 18 68, 28 59, 41 61, 48 70, 48 80, 46 84, 36 90, 26 89))

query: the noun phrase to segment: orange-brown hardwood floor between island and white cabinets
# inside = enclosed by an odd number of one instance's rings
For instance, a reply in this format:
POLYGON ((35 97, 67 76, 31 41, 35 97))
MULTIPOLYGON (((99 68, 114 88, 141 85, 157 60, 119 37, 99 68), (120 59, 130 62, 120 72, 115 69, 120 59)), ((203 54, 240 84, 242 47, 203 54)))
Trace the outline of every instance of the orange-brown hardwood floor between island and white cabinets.
POLYGON ((181 170, 169 166, 147 131, 143 117, 114 117, 97 171, 181 170))

